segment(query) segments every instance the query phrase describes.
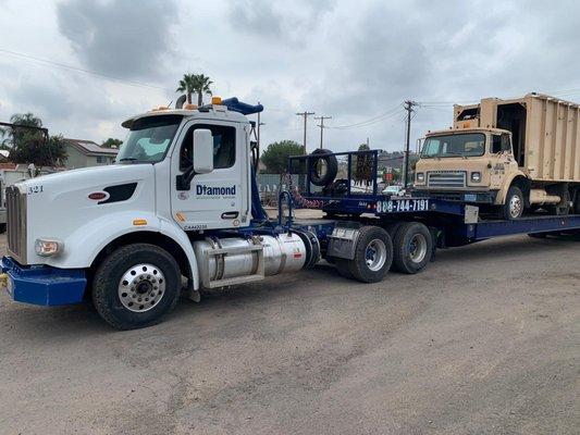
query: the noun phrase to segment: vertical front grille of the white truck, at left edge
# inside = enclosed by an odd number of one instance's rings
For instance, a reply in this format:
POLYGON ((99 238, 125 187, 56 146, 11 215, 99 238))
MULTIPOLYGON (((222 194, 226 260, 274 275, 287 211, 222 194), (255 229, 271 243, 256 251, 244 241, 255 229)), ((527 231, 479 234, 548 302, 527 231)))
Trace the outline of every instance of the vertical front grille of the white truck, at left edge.
POLYGON ((26 263, 26 195, 16 186, 8 186, 7 232, 8 253, 21 264, 26 263))

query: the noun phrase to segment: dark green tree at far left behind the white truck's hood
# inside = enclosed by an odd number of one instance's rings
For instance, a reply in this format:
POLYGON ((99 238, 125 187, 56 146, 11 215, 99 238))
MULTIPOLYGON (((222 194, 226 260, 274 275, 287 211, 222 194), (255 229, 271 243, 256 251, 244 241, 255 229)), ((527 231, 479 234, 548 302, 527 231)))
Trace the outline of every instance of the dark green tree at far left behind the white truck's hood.
POLYGON ((10 160, 14 163, 34 163, 35 166, 53 166, 66 161, 62 135, 46 140, 42 121, 32 113, 16 113, 10 117, 14 124, 10 139, 10 160), (27 128, 36 127, 36 128, 27 128))

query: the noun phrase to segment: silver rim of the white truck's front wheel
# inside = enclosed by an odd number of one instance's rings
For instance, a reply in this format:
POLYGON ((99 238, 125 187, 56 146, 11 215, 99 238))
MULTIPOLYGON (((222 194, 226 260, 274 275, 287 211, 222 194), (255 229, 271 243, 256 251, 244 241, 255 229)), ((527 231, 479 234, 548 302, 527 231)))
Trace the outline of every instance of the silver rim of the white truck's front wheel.
POLYGON ((133 312, 146 312, 165 295, 165 276, 152 264, 136 264, 119 282, 119 300, 133 312))

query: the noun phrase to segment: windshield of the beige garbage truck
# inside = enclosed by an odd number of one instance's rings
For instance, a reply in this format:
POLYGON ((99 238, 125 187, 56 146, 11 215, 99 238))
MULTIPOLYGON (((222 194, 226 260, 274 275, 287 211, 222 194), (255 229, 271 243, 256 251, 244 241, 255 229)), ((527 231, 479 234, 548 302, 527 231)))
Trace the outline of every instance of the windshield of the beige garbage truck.
POLYGON ((469 133, 430 136, 425 139, 421 157, 476 157, 483 156, 484 152, 485 135, 469 133))

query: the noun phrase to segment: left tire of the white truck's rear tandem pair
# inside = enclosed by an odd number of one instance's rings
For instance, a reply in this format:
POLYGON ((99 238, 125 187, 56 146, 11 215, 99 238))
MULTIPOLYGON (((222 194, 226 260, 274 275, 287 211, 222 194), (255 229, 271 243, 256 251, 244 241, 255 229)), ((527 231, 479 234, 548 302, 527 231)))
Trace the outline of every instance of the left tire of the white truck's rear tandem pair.
POLYGON ((378 283, 393 263, 393 241, 380 226, 363 226, 357 239, 355 259, 347 263, 353 277, 361 283, 378 283))

